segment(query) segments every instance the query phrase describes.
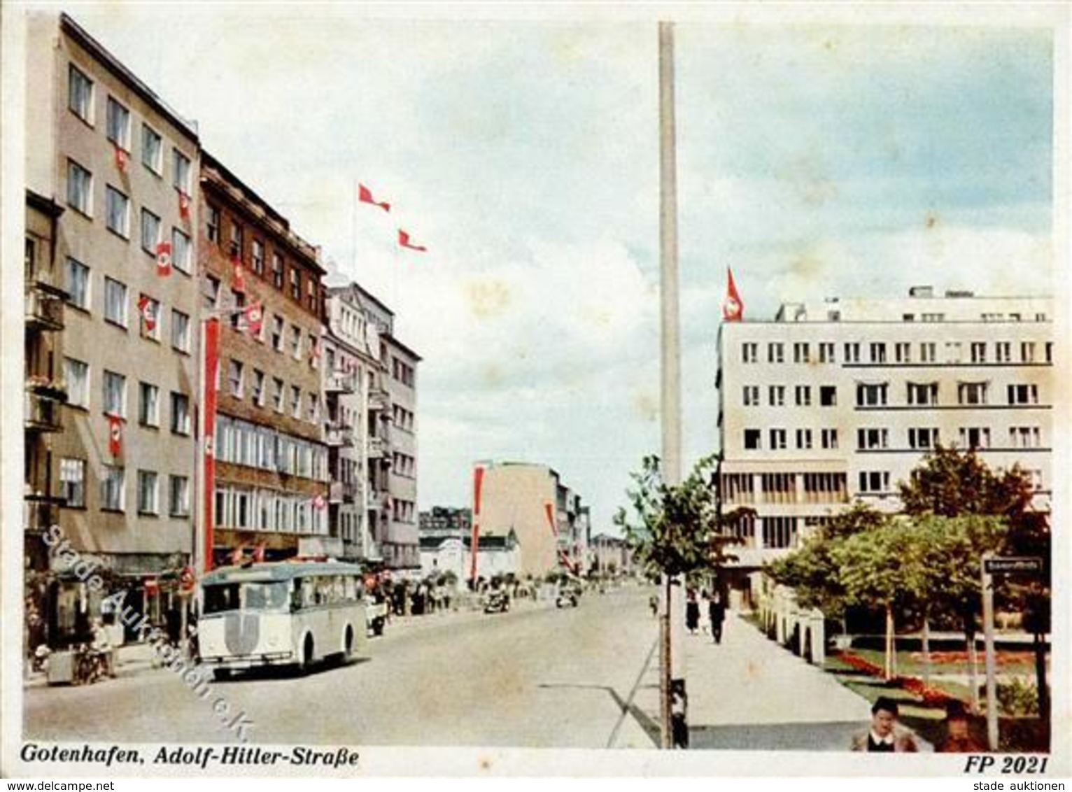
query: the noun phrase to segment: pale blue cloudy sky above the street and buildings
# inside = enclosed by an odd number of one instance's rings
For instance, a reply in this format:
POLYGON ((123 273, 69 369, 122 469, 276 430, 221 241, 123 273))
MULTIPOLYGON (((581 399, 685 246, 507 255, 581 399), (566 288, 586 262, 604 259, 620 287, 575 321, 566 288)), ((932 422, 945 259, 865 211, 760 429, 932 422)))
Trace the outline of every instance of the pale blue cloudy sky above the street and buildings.
MULTIPOLYGON (((540 462, 613 533, 660 444, 654 16, 64 9, 393 309, 423 358, 421 509, 468 505, 474 461, 540 462)), ((800 16, 675 26, 686 465, 717 449, 727 267, 746 319, 1053 293, 1051 31, 800 16)))

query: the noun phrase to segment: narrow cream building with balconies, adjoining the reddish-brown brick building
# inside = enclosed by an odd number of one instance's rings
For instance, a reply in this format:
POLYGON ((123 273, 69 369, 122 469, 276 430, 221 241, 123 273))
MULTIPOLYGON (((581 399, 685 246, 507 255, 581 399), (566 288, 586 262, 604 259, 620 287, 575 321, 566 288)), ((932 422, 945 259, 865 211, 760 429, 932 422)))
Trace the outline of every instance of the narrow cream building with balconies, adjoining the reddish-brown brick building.
POLYGON ((386 452, 390 403, 379 329, 357 284, 328 289, 324 349, 325 433, 331 477, 329 525, 351 561, 382 562, 390 514, 386 452))

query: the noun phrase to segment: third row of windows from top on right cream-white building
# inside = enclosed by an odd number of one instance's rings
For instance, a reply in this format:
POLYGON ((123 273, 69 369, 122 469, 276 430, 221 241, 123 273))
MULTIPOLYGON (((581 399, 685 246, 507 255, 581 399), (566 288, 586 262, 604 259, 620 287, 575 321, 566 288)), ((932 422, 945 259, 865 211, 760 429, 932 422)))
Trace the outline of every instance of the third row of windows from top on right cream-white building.
MULTIPOLYGON (((815 431, 798 429, 794 433, 795 448, 808 450, 815 447, 815 431)), ((837 430, 822 429, 818 432, 819 447, 823 449, 837 448, 837 430)), ((746 450, 762 450, 762 430, 744 430, 744 448, 746 450)), ((789 448, 789 430, 769 429, 768 446, 772 451, 789 448)), ((962 448, 993 448, 988 427, 961 427, 957 430, 957 445, 962 448)), ((912 450, 929 450, 940 442, 937 427, 913 427, 907 430, 907 448, 912 450)), ((1042 448, 1042 429, 1040 427, 1010 427, 1008 448, 1042 448)), ((857 430, 857 449, 874 451, 890 448, 890 430, 867 428, 857 430)))

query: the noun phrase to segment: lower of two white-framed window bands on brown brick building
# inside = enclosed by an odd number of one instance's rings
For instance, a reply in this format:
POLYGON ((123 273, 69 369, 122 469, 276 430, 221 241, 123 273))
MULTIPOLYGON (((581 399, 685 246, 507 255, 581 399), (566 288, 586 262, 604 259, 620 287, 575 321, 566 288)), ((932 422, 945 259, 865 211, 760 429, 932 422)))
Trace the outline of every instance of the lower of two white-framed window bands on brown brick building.
POLYGON ((215 524, 236 531, 289 534, 328 533, 328 510, 314 496, 264 488, 220 487, 215 490, 215 524))

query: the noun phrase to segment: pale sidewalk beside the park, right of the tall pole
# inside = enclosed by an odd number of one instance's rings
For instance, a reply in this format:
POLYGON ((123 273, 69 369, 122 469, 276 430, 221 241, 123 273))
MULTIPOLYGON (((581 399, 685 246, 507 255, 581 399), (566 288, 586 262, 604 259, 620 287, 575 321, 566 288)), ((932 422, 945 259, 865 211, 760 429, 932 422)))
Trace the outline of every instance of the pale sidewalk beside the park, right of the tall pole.
MULTIPOLYGON (((693 749, 844 751, 870 721, 865 699, 733 614, 721 644, 686 633, 684 652, 693 749)), ((645 711, 657 699, 651 686, 645 711)))

